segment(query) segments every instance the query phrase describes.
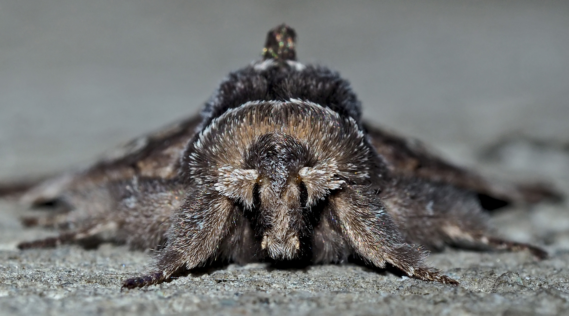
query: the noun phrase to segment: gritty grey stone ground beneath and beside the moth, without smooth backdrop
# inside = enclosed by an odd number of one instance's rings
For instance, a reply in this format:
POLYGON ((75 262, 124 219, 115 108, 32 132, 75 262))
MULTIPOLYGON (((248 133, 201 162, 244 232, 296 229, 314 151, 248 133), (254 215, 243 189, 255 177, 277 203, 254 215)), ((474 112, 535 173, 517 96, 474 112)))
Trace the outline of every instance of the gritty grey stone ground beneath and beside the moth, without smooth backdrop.
MULTIPOLYGON (((513 176, 523 171, 550 178, 569 193, 569 155, 563 146, 509 140, 491 147, 479 160, 488 173, 499 170, 513 176), (543 161, 548 161, 546 167, 539 163, 543 161)), ((121 292, 122 278, 144 271, 149 253, 112 244, 96 250, 62 246, 18 251, 18 241, 54 232, 22 228, 18 217, 29 211, 15 201, 2 200, 0 314, 566 315, 567 210, 562 202, 493 213, 497 231, 545 247, 551 255, 546 260, 538 261, 527 252, 433 253, 429 260, 460 281, 456 287, 354 264, 306 269, 250 264, 121 292)))

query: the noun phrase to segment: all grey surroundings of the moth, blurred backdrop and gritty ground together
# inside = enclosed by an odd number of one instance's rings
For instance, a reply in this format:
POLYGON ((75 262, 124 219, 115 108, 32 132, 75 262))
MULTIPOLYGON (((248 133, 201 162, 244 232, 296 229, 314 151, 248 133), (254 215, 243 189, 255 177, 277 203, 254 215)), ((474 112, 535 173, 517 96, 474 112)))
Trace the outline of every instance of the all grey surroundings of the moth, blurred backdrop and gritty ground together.
MULTIPOLYGON (((195 113, 269 28, 299 34, 301 61, 340 70, 369 120, 505 178, 569 194, 566 1, 0 0, 0 180, 80 168, 125 140, 195 113)), ((493 213, 527 253, 448 250, 462 286, 357 265, 209 271, 119 291, 149 253, 105 244, 17 251, 28 212, 0 201, 0 314, 569 314, 569 207, 493 213)))

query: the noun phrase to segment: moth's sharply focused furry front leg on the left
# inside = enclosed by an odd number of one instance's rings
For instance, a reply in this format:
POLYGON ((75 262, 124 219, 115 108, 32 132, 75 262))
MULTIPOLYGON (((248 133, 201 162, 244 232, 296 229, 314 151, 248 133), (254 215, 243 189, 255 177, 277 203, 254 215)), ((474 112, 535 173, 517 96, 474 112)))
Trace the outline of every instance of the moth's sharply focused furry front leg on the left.
POLYGON ((122 288, 159 284, 178 269, 192 269, 213 256, 234 225, 236 206, 213 185, 200 185, 185 197, 172 214, 166 247, 158 252, 148 275, 122 281, 122 288))

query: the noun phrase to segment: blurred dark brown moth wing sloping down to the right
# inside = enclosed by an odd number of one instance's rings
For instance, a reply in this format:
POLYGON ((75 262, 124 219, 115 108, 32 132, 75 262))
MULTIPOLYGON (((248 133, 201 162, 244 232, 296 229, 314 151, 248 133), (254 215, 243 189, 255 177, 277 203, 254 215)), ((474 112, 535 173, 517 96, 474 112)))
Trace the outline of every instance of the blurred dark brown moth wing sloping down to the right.
POLYGON ((364 123, 369 139, 391 172, 451 184, 479 194, 485 209, 497 209, 508 203, 535 203, 562 196, 547 184, 514 184, 486 179, 480 174, 458 167, 428 149, 416 139, 364 123))

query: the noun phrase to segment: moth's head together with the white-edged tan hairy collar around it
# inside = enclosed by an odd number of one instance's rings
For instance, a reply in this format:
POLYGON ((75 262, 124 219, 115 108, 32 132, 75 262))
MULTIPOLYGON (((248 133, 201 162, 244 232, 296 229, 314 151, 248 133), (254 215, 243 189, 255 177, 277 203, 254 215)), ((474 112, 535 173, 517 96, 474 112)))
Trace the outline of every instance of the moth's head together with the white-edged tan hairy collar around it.
POLYGON ((368 181, 374 163, 353 119, 294 99, 246 103, 196 137, 184 177, 236 203, 273 259, 294 259, 312 207, 344 182, 368 181))

